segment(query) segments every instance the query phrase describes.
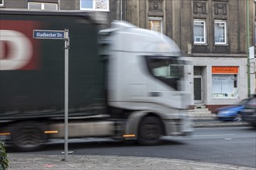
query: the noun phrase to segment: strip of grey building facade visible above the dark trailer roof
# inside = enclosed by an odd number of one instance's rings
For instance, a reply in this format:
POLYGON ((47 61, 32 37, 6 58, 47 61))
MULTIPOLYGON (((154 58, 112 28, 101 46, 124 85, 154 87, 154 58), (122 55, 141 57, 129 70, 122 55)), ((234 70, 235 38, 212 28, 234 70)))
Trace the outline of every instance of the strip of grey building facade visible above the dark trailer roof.
POLYGON ((106 28, 113 20, 121 19, 120 12, 123 4, 119 0, 0 0, 0 8, 96 12, 95 19, 106 28))

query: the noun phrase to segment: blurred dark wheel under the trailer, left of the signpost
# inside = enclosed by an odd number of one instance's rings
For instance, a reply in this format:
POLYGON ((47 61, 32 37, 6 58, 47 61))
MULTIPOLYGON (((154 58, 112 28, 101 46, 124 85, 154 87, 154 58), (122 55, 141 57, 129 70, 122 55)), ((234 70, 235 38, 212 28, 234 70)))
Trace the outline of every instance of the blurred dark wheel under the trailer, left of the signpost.
POLYGON ((12 131, 12 145, 18 151, 35 151, 42 147, 44 134, 40 125, 26 122, 15 124, 12 131))

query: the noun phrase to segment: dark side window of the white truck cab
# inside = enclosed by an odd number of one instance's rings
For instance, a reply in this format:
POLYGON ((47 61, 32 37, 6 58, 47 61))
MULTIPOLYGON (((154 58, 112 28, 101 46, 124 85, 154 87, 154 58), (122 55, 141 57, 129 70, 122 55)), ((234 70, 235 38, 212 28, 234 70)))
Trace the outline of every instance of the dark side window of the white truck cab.
POLYGON ((150 75, 178 90, 178 81, 184 73, 184 64, 173 56, 146 56, 150 75))

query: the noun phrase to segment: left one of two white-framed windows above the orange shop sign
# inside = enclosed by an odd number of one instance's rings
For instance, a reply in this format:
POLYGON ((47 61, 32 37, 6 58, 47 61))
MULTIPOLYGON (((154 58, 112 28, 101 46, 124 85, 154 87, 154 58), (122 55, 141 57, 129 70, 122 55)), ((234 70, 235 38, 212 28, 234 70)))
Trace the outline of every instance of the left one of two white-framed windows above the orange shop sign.
POLYGON ((195 19, 194 20, 194 43, 206 43, 206 21, 195 19))

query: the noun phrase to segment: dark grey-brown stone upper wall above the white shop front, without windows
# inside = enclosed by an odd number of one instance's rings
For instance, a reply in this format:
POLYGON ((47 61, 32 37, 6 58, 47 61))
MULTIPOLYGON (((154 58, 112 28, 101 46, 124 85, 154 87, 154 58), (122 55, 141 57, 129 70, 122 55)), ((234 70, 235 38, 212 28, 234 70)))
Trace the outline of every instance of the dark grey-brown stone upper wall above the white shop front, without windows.
MULTIPOLYGON (((249 0, 250 43, 253 42, 255 5, 249 0)), ((150 16, 163 17, 163 33, 185 53, 247 53, 246 1, 240 0, 127 0, 126 20, 148 29, 150 16), (207 43, 194 45, 193 19, 206 19, 207 43), (214 45, 214 19, 227 20, 227 46, 214 45), (189 46, 189 48, 188 48, 189 46)))

